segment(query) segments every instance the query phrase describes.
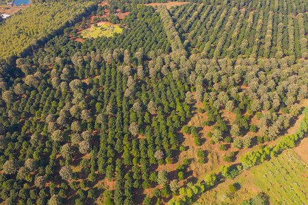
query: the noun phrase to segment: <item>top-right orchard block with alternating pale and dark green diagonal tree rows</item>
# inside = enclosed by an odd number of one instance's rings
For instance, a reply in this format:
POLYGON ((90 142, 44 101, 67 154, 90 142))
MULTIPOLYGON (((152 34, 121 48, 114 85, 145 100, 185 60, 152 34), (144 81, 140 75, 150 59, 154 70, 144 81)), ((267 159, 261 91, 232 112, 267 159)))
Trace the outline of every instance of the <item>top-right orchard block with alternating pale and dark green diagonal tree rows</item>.
POLYGON ((292 10, 287 15, 264 10, 268 10, 266 3, 261 4, 259 10, 253 10, 249 3, 242 5, 240 1, 233 1, 215 7, 190 3, 170 11, 177 18, 175 27, 190 52, 201 52, 209 58, 306 57, 307 38, 303 38, 303 26, 298 23, 305 14, 299 14, 298 18, 292 10))

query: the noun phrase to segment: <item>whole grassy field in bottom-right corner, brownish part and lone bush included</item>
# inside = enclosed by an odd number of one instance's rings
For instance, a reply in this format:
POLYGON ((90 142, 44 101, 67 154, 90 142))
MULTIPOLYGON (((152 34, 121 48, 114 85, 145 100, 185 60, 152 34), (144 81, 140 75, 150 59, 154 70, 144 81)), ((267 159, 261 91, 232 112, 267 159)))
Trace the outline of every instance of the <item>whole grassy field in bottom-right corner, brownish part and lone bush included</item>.
POLYGON ((270 196, 270 204, 307 204, 307 164, 294 150, 286 150, 277 158, 226 180, 198 200, 201 204, 239 204, 259 191, 270 196), (229 184, 238 183, 239 190, 229 191, 229 184))

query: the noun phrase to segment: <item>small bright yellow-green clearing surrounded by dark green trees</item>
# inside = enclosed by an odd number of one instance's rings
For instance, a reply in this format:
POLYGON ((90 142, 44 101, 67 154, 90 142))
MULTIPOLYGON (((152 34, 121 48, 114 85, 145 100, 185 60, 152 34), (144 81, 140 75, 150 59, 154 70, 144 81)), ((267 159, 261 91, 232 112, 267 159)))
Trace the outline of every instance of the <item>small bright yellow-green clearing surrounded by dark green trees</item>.
POLYGON ((118 25, 103 24, 91 27, 81 32, 82 38, 98 38, 100 36, 112 37, 114 33, 122 33, 123 29, 118 25))

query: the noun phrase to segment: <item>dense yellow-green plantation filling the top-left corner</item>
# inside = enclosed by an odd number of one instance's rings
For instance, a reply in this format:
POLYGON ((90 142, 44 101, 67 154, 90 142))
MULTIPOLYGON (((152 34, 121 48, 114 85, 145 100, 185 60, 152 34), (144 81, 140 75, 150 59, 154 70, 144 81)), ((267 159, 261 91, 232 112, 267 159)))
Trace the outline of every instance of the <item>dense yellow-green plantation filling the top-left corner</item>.
POLYGON ((0 26, 0 59, 20 55, 91 12, 91 1, 52 1, 29 6, 0 26))

